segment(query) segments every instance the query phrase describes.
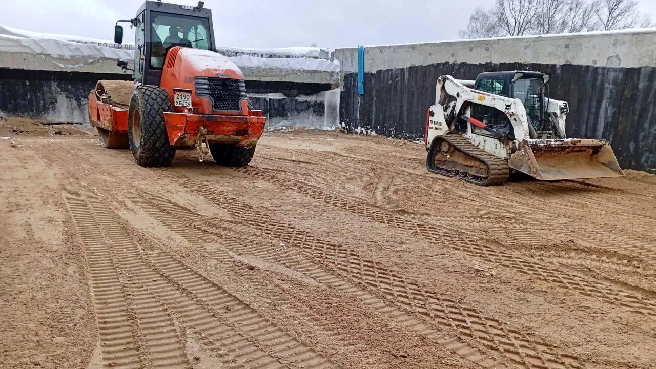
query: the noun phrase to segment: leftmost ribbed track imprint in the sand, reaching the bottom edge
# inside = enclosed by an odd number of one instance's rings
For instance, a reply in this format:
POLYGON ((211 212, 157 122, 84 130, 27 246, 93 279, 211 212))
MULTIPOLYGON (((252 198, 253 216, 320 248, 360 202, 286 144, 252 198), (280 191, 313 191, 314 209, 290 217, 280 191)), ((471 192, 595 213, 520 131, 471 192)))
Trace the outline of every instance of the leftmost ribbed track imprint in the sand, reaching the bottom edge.
POLYGON ((104 366, 191 368, 167 311, 123 270, 132 240, 108 213, 94 211, 84 192, 67 186, 64 200, 89 265, 104 366))

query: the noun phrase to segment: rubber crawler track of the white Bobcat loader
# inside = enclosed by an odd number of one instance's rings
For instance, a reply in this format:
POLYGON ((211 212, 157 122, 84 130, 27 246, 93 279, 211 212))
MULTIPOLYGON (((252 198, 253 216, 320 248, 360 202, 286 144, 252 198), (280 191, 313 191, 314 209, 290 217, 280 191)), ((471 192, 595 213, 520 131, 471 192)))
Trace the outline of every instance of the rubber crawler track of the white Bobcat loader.
MULTIPOLYGON (((480 160, 481 162, 485 163, 487 165, 487 170, 489 175, 484 181, 476 181, 474 179, 470 179, 467 177, 460 177, 460 176, 455 176, 450 173, 446 173, 440 170, 431 170, 428 169, 434 173, 439 173, 441 175, 447 175, 449 177, 458 177, 461 178, 462 181, 467 181, 470 183, 474 183, 476 185, 483 185, 483 186, 496 186, 496 185, 503 185, 506 183, 508 180, 508 175, 510 175, 510 168, 508 167, 508 163, 505 162, 505 160, 499 159, 496 156, 490 154, 489 152, 483 150, 482 148, 479 148, 475 144, 472 144, 472 142, 467 141, 467 139, 459 134, 453 134, 453 135, 444 135, 444 136, 438 136, 436 139, 443 139, 444 141, 447 141, 451 143, 453 146, 455 146, 458 150, 461 152, 464 152, 465 154, 472 156, 473 158, 476 158, 480 160)), ((434 150, 437 150, 437 145, 434 150)), ((430 154, 433 153, 433 150, 429 152, 430 154)), ((434 158, 426 158, 426 161, 432 161, 434 158)), ((428 165, 430 168, 432 165, 428 165)))

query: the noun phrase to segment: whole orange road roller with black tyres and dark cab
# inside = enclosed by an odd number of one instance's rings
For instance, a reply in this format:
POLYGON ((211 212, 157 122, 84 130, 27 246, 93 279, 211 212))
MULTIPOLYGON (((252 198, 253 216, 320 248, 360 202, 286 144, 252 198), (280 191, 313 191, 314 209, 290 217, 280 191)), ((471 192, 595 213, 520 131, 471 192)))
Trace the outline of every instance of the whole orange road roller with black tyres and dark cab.
POLYGON ((89 94, 89 121, 102 146, 127 148, 142 166, 171 165, 178 148, 206 142, 215 161, 243 166, 253 158, 266 118, 253 110, 241 70, 216 53, 212 12, 146 1, 132 20, 133 81, 98 81, 89 94))

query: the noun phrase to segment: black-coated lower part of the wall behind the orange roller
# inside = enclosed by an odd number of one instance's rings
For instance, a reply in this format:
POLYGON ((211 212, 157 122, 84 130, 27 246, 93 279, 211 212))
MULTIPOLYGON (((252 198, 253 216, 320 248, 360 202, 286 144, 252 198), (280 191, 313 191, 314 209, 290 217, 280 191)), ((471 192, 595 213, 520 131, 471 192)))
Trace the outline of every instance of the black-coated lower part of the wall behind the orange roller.
MULTIPOLYGON (((87 96, 98 79, 129 80, 128 74, 100 74, 0 68, 0 116, 47 123, 88 123, 87 96)), ((269 118, 267 129, 334 129, 339 91, 330 83, 246 81, 247 94, 269 118)))

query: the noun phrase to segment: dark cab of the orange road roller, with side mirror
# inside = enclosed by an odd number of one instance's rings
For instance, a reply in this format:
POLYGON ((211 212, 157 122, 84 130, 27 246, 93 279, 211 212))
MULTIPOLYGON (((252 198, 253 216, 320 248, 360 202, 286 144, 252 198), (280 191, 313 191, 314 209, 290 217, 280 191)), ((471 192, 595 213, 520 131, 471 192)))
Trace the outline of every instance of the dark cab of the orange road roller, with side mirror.
MULTIPOLYGON (((197 7, 146 1, 129 22, 135 28, 134 80, 160 85, 167 53, 174 46, 216 50, 212 11, 197 7)), ((121 21, 119 21, 121 22, 121 21)), ((117 22, 118 23, 118 22, 117 22)), ((121 43, 123 29, 116 27, 115 41, 121 43), (118 39, 119 33, 121 39, 118 39)))

